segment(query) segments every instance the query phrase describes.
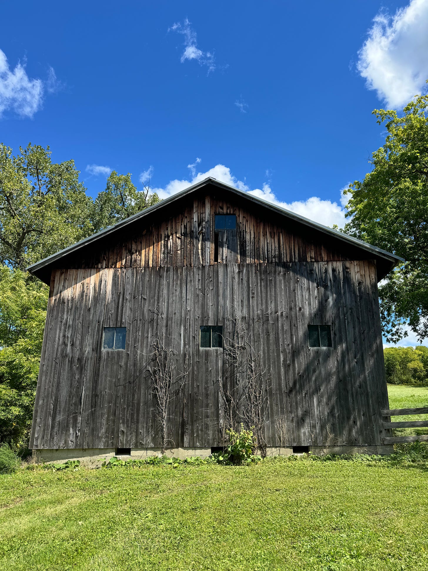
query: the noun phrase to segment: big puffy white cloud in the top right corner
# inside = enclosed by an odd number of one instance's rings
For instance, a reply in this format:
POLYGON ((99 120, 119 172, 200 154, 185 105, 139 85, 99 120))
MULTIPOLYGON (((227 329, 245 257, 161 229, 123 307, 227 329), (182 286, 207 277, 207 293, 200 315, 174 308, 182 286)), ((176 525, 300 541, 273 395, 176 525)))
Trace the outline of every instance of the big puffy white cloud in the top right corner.
POLYGON ((425 89, 428 78, 428 0, 410 0, 390 17, 379 13, 359 51, 358 71, 389 108, 425 89))

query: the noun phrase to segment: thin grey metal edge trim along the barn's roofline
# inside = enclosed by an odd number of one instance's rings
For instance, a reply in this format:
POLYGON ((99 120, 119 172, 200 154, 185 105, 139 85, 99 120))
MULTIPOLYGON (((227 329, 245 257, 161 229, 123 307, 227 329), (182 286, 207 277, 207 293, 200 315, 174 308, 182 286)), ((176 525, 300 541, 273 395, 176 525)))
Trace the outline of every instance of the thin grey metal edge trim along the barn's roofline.
POLYGON ((126 218, 124 220, 121 220, 120 222, 114 224, 114 226, 109 226, 108 228, 104 228, 104 230, 100 230, 99 232, 96 232, 96 234, 92 234, 91 236, 88 236, 87 238, 80 240, 80 242, 76 242, 75 244, 72 244, 71 246, 67 246, 66 248, 63 248, 63 250, 59 250, 58 252, 55 252, 55 254, 51 254, 50 256, 47 256, 47 258, 43 258, 39 262, 36 262, 35 264, 31 264, 31 266, 27 267, 27 271, 33 273, 37 270, 40 270, 41 268, 49 265, 51 262, 54 262, 55 260, 62 258, 63 255, 66 255, 70 252, 74 252, 76 250, 79 250, 80 248, 87 246, 87 244, 91 244, 92 242, 96 242, 96 240, 98 240, 99 238, 102 238, 103 236, 108 236, 109 234, 112 234, 113 232, 115 232, 119 228, 123 228, 123 227, 127 226, 128 224, 135 222, 135 220, 145 218, 147 215, 152 214, 153 212, 155 212, 157 210, 160 210, 165 205, 170 204, 172 202, 175 202, 175 200, 178 200, 178 199, 182 198, 183 196, 190 194, 191 192, 197 190, 197 188, 201 188, 201 187, 205 186, 205 184, 208 184, 208 183, 215 184, 215 186, 218 186, 219 188, 227 188, 228 190, 231 190, 235 194, 242 196, 243 198, 250 200, 253 203, 261 204, 265 208, 268 208, 269 210, 277 212, 277 214, 282 214, 282 215, 288 216, 288 218, 291 218, 292 220, 294 220, 296 222, 303 223, 306 226, 314 228, 315 230, 320 230, 320 231, 324 232, 325 234, 330 234, 330 236, 333 236, 334 238, 338 238, 344 242, 348 242, 350 244, 353 244, 354 246, 364 248, 364 250, 372 252, 373 254, 377 254, 378 256, 381 256, 382 258, 387 258, 391 262, 394 262, 394 261, 395 262, 405 262, 405 260, 403 258, 400 258, 399 256, 392 254, 391 252, 387 252, 386 250, 382 250, 382 248, 378 248, 376 246, 373 246, 372 244, 369 244, 368 242, 363 242, 362 240, 360 240, 358 238, 354 238, 353 236, 349 236, 348 234, 343 234, 343 232, 339 232, 338 230, 334 230, 333 228, 330 228, 329 226, 324 226, 324 224, 314 222, 314 220, 310 220, 309 218, 305 218, 305 216, 301 216, 300 214, 296 214, 295 212, 292 212, 290 210, 286 210, 286 208, 282 208, 280 206, 277 206, 276 204, 272 204, 270 202, 267 202, 267 200, 259 198, 259 196, 254 196, 254 195, 250 194, 249 192, 240 190, 239 188, 235 188, 233 186, 230 186, 229 184, 226 184, 224 182, 221 182, 220 180, 217 180, 217 179, 209 176, 208 178, 201 180, 199 183, 192 184, 191 186, 184 188, 184 190, 177 192, 176 194, 173 194, 172 196, 168 196, 168 198, 161 200, 157 204, 154 204, 153 206, 150 206, 150 207, 146 208, 145 210, 137 212, 136 214, 129 216, 128 218, 126 218))

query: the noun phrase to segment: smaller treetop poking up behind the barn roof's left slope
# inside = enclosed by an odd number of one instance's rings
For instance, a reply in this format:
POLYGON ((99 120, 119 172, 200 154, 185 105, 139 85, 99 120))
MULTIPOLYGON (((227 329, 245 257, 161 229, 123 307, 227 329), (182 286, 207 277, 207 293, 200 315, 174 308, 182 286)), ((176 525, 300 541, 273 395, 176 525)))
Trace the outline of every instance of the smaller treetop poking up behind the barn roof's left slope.
POLYGON ((113 171, 107 179, 106 190, 98 194, 94 203, 94 231, 113 226, 157 202, 159 196, 156 193, 150 194, 148 186, 144 186, 144 191, 137 190, 129 172, 127 175, 118 175, 113 171))

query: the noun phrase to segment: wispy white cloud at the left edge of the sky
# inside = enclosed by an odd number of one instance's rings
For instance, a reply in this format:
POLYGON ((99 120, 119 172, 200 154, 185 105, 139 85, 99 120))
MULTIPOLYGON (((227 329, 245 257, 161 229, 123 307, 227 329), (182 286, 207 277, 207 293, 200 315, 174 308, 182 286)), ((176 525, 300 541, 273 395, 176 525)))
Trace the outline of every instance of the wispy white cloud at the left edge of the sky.
POLYGON ((42 107, 43 82, 41 79, 30 79, 25 71, 25 64, 11 70, 6 54, 0 50, 0 117, 6 110, 11 110, 21 117, 33 117, 42 107))

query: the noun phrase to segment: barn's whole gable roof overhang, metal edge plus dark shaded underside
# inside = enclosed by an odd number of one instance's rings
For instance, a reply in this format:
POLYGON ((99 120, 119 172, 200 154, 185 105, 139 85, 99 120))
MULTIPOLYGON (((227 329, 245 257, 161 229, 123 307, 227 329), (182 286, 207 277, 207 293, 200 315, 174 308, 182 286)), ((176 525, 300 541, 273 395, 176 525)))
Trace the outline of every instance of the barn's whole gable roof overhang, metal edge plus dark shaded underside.
POLYGON ((212 178, 210 176, 199 183, 193 184, 192 186, 185 188, 181 192, 177 192, 177 194, 174 194, 164 200, 161 200, 161 202, 158 202, 157 204, 154 204, 154 206, 146 208, 146 210, 142 210, 141 212, 137 212, 137 214, 134 214, 129 218, 121 220, 117 224, 114 224, 114 226, 109 226, 108 228, 105 228, 104 230, 101 230, 96 234, 92 234, 92 236, 88 236, 88 238, 80 240, 80 242, 77 242, 76 244, 72 244, 72 246, 68 246, 63 250, 56 252, 56 254, 47 256, 47 258, 44 258, 40 262, 37 262, 32 266, 29 266, 27 270, 31 274, 40 278, 43 282, 49 284, 51 270, 53 270, 55 267, 58 267, 57 262, 60 259, 64 258, 65 256, 68 256, 69 254, 75 254, 81 248, 89 246, 90 244, 95 244, 98 240, 106 238, 107 236, 126 228, 130 224, 134 224, 138 220, 143 220, 148 216, 153 215, 154 212, 159 211, 162 208, 167 207, 169 204, 177 202, 181 198, 184 198, 184 196, 191 195, 193 192, 199 191, 201 188, 208 185, 215 186, 220 188, 221 190, 231 192, 232 194, 239 196, 239 198, 243 198, 248 202, 255 204, 256 206, 262 206, 265 209, 268 209, 276 214, 284 216, 285 219, 293 220, 294 222, 312 228, 312 230, 322 232, 323 234, 328 235, 330 238, 340 240, 341 242, 348 243, 353 247, 365 250, 368 254, 370 254, 370 258, 381 260, 383 262, 382 263, 383 270, 381 271, 380 274, 378 272, 378 280, 381 280, 394 266, 397 265, 398 262, 404 262, 403 258, 399 258, 399 256, 391 254, 386 250, 381 250, 381 248, 372 246, 372 244, 362 242, 362 240, 358 240, 357 238, 353 238, 352 236, 348 236, 347 234, 342 234, 342 232, 333 230, 333 228, 329 228, 328 226, 323 226, 318 222, 313 222, 313 220, 309 220, 309 218, 305 218, 305 216, 301 216, 299 214, 296 214, 295 212, 291 212, 290 210, 286 210, 285 208, 276 206, 275 204, 267 202, 266 200, 258 198, 257 196, 253 196, 248 192, 239 190, 238 188, 229 186, 228 184, 220 182, 219 180, 212 178))

